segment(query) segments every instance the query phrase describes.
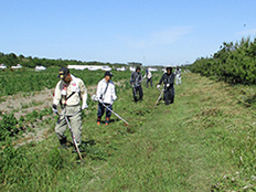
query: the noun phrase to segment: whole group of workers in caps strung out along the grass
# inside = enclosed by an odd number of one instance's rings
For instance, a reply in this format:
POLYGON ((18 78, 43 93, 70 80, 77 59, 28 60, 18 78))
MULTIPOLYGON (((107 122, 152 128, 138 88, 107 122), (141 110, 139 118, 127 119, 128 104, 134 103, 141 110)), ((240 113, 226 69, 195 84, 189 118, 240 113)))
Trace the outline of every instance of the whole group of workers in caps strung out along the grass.
MULTIPOLYGON (((143 92, 141 83, 143 78, 147 79, 147 87, 149 84, 152 87, 152 74, 149 70, 146 70, 146 74, 142 77, 140 73, 140 66, 136 67, 136 71, 131 73, 130 84, 132 86, 134 100, 142 100, 143 92), (138 96, 137 96, 138 93, 138 96)), ((109 119, 113 110, 113 103, 117 99, 115 85, 111 81, 114 75, 111 72, 106 72, 103 79, 99 81, 97 85, 95 102, 98 102, 97 110, 97 125, 100 125, 102 117, 106 111, 105 125, 109 124, 109 119)), ((181 84, 181 71, 177 67, 175 73, 172 73, 172 67, 167 67, 167 73, 164 73, 158 83, 157 87, 163 83, 163 99, 166 105, 172 104, 174 102, 174 78, 177 77, 177 84, 181 84)), ((84 82, 75 77, 70 73, 67 67, 61 67, 58 71, 58 78, 61 78, 53 94, 53 106, 52 109, 57 114, 57 106, 61 105, 62 113, 58 116, 55 132, 60 140, 61 147, 66 148, 66 136, 64 135, 67 121, 65 119, 65 114, 68 114, 68 119, 71 121, 71 127, 73 128, 73 135, 77 142, 77 146, 82 142, 82 110, 86 109, 87 106, 87 88, 84 82), (82 106, 79 103, 82 103, 82 106)))

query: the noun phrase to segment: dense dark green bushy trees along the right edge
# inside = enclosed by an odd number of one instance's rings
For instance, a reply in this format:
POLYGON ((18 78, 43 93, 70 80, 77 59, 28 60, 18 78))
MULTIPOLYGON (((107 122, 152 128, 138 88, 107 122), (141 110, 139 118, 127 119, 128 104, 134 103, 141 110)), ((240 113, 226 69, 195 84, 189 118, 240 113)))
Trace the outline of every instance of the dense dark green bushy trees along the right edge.
POLYGON ((191 72, 230 84, 256 83, 256 39, 243 38, 239 42, 224 42, 211 57, 198 58, 191 72))

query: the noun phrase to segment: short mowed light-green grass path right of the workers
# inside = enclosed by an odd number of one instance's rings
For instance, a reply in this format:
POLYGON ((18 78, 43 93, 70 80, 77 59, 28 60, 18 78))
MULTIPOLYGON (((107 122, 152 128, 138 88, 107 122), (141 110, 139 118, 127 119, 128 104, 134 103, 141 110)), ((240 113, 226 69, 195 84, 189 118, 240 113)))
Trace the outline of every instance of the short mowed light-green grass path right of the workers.
MULTIPOLYGON (((243 162, 236 148, 246 145, 243 139, 247 129, 253 129, 255 117, 237 103, 241 89, 188 73, 182 85, 175 86, 174 105, 160 103, 156 109, 156 88, 143 88, 145 100, 137 105, 127 92, 124 105, 151 113, 128 115, 136 132, 118 141, 121 145, 116 153, 82 191, 210 191, 225 174, 241 174, 238 180, 252 183, 243 173, 244 167, 238 166, 243 162)), ((110 131, 111 126, 95 130, 110 131)), ((223 189, 237 188, 227 181, 223 189)))

